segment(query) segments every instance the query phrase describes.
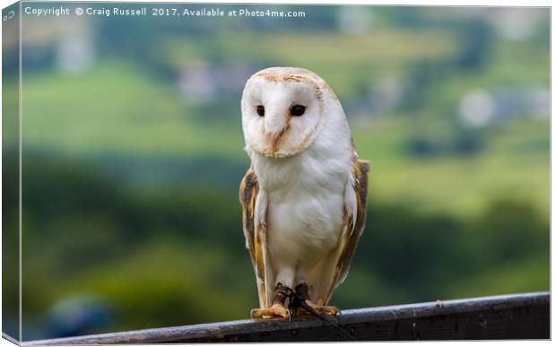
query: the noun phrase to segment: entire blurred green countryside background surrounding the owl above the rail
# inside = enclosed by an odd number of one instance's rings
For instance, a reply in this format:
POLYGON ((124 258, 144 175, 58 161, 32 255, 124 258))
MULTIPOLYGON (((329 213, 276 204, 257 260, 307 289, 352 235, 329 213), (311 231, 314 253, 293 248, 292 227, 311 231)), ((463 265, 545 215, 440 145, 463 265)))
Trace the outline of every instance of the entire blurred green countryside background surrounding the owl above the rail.
POLYGON ((534 28, 516 39, 500 9, 289 8, 311 16, 52 20, 24 42, 24 339, 248 317, 239 100, 271 65, 325 78, 371 161, 332 304, 549 289, 548 11, 514 9, 534 28))

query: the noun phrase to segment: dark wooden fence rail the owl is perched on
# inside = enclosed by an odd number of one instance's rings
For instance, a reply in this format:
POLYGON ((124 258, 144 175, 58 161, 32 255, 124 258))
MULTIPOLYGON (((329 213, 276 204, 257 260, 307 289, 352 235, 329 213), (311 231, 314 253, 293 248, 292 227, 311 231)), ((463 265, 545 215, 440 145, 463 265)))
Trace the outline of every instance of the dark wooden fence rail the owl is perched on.
MULTIPOLYGON (((334 321, 359 341, 549 339, 548 292, 343 310, 334 321)), ((40 340, 25 346, 99 343, 346 341, 316 317, 246 319, 40 340)))

